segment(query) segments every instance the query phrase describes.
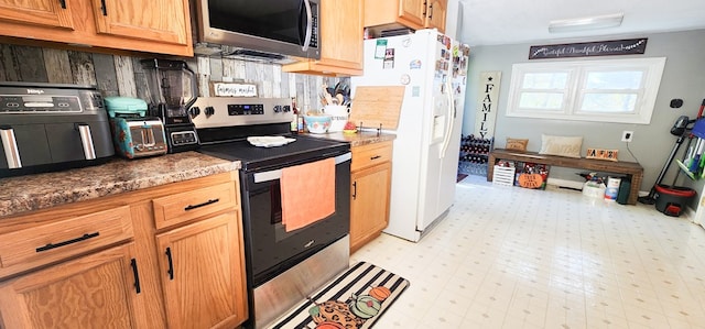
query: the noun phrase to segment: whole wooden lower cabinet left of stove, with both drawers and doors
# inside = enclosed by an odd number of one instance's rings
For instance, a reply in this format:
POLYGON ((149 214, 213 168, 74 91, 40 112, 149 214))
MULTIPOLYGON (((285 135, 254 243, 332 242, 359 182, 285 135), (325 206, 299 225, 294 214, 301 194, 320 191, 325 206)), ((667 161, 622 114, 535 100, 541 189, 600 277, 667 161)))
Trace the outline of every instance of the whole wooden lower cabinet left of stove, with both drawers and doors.
POLYGON ((0 218, 0 238, 31 238, 0 255, 46 253, 0 257, 0 329, 236 328, 248 317, 241 224, 235 172, 0 218), (187 213, 158 219, 174 195, 187 213))

